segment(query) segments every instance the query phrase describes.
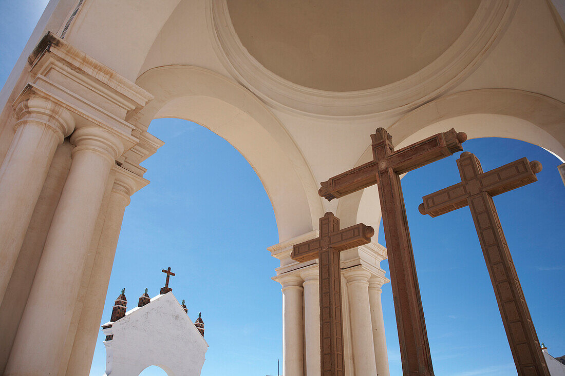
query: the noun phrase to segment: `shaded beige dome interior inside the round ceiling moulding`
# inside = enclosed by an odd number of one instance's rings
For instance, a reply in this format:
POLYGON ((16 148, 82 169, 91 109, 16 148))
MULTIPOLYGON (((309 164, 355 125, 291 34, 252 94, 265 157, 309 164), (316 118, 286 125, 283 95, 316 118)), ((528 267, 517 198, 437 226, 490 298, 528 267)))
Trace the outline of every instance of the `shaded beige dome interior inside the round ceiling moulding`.
POLYGON ((294 84, 379 88, 446 51, 480 0, 227 0, 242 45, 294 84))

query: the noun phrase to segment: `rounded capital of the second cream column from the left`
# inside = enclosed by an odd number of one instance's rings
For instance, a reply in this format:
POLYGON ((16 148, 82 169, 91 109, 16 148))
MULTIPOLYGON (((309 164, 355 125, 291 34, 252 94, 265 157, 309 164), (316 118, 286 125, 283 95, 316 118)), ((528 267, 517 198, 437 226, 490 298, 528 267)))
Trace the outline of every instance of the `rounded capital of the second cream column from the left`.
POLYGON ((77 152, 89 150, 102 155, 112 164, 124 152, 124 143, 120 137, 98 126, 76 129, 71 135, 71 143, 75 145, 73 156, 77 152))

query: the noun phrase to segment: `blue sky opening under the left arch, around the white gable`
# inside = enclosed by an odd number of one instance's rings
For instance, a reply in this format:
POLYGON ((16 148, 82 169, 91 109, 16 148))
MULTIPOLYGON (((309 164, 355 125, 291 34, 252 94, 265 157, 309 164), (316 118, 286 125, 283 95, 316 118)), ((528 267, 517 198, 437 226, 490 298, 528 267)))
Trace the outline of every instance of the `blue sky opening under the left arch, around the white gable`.
MULTIPOLYGON (((103 321, 121 288, 132 309, 146 287, 159 294, 161 269, 171 266, 173 295, 193 322, 202 312, 210 345, 202 375, 266 373, 282 357, 282 318, 280 285, 271 280, 279 263, 266 250, 279 241, 277 224, 262 182, 199 124, 155 119, 149 131, 165 145, 144 161, 151 183, 125 212, 103 321)), ((93 370, 105 364, 103 340, 93 370)))

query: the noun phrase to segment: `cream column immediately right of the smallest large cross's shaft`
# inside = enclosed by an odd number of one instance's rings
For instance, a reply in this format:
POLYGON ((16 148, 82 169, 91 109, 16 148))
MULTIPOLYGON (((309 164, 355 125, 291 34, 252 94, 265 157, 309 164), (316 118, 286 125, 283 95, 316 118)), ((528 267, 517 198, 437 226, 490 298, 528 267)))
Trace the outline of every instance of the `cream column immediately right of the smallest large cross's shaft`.
POLYGON ((344 277, 347 280, 355 374, 359 376, 376 375, 377 368, 368 291, 371 273, 361 268, 352 268, 345 270, 344 277))

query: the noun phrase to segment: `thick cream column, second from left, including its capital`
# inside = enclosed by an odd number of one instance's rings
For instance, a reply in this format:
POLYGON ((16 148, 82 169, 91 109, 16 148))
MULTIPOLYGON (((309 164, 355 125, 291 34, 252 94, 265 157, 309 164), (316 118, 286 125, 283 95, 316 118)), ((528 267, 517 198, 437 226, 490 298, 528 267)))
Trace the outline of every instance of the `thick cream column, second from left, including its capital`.
POLYGON ((108 174, 123 152, 118 134, 75 130, 73 161, 6 366, 9 375, 58 374, 82 269, 108 174))

